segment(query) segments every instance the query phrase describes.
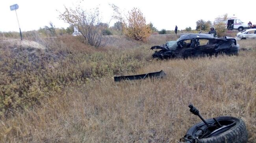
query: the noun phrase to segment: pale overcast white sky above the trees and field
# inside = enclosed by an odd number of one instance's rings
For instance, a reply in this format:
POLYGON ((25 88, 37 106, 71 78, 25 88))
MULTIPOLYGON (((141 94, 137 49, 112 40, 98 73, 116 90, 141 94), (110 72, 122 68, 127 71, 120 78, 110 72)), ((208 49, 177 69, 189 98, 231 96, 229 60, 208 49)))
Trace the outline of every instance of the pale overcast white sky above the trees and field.
MULTIPOLYGON (((15 11, 10 10, 10 5, 18 4, 17 10, 21 31, 37 30, 39 27, 49 25, 51 21, 56 27, 68 27, 69 25, 59 20, 59 12, 66 7, 75 7, 80 0, 0 0, 0 31, 19 31, 15 11), (58 10, 58 11, 56 11, 58 10)), ((191 27, 195 29, 196 21, 210 20, 228 13, 245 23, 249 21, 256 24, 256 16, 253 6, 255 1, 239 2, 232 0, 83 0, 80 5, 84 9, 99 7, 102 14, 102 22, 108 23, 113 15, 109 4, 115 4, 120 9, 128 11, 133 7, 141 9, 147 23, 158 29, 174 30, 191 27), (247 6, 245 6, 247 5, 247 6), (248 8, 247 8, 248 7, 248 8)), ((110 26, 116 21, 111 20, 110 26)))

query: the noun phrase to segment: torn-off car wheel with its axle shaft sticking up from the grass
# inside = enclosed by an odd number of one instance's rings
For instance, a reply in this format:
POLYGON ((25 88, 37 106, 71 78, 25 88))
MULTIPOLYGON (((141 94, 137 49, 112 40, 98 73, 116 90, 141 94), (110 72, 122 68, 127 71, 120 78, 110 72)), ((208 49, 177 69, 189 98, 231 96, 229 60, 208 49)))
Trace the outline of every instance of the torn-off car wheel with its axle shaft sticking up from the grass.
POLYGON ((246 143, 248 132, 242 119, 231 116, 204 119, 192 104, 190 112, 197 115, 202 122, 187 130, 180 143, 246 143))

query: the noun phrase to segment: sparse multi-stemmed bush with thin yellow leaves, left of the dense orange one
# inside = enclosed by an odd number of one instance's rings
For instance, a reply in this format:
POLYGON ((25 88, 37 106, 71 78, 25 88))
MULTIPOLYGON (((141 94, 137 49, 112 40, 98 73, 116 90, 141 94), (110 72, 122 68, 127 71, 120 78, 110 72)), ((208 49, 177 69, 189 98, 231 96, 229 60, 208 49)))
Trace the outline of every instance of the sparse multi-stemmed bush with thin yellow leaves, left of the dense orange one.
POLYGON ((87 43, 95 47, 104 46, 102 44, 102 36, 108 28, 108 24, 101 22, 100 12, 98 8, 85 11, 80 7, 75 9, 67 9, 59 15, 61 20, 76 26, 87 43))

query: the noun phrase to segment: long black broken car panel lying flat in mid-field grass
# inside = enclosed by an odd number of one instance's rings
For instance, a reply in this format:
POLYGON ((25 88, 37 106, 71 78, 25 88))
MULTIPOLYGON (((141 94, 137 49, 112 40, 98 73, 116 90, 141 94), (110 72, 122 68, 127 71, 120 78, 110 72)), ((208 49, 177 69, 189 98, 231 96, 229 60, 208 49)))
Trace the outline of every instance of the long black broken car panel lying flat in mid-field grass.
POLYGON ((121 80, 141 80, 145 78, 163 78, 166 73, 161 70, 159 72, 150 72, 146 74, 138 74, 138 75, 131 75, 131 76, 115 76, 114 81, 121 81, 121 80))

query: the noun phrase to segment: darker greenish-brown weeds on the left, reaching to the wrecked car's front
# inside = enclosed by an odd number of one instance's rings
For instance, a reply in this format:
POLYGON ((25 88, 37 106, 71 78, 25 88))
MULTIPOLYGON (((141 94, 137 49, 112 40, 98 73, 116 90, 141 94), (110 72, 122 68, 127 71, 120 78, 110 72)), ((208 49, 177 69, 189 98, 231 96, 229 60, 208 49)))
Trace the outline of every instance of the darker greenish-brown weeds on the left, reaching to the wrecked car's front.
POLYGON ((46 50, 0 41, 0 116, 29 109, 67 86, 134 72, 151 60, 145 45, 96 49, 72 36, 40 41, 46 50))

